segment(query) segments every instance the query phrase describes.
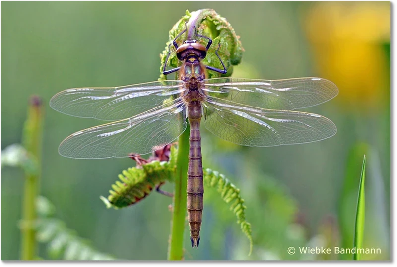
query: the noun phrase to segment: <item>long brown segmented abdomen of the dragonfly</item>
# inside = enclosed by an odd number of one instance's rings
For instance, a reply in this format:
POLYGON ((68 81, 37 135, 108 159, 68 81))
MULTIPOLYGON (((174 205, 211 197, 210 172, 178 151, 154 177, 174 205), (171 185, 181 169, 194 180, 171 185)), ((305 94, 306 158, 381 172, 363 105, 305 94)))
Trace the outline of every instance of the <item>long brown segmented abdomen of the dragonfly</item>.
POLYGON ((201 104, 192 102, 188 105, 188 119, 190 124, 189 137, 189 167, 188 167, 188 221, 192 247, 198 247, 203 209, 203 171, 201 155, 201 104))

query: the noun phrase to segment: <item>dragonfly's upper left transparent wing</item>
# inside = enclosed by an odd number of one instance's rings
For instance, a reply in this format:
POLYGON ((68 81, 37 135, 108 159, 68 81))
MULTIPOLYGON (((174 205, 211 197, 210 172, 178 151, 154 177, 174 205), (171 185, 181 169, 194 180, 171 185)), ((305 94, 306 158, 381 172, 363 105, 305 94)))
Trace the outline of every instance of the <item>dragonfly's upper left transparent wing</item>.
POLYGON ((170 96, 178 97, 182 81, 158 81, 120 87, 73 88, 50 100, 55 110, 83 118, 121 120, 157 107, 170 96))

